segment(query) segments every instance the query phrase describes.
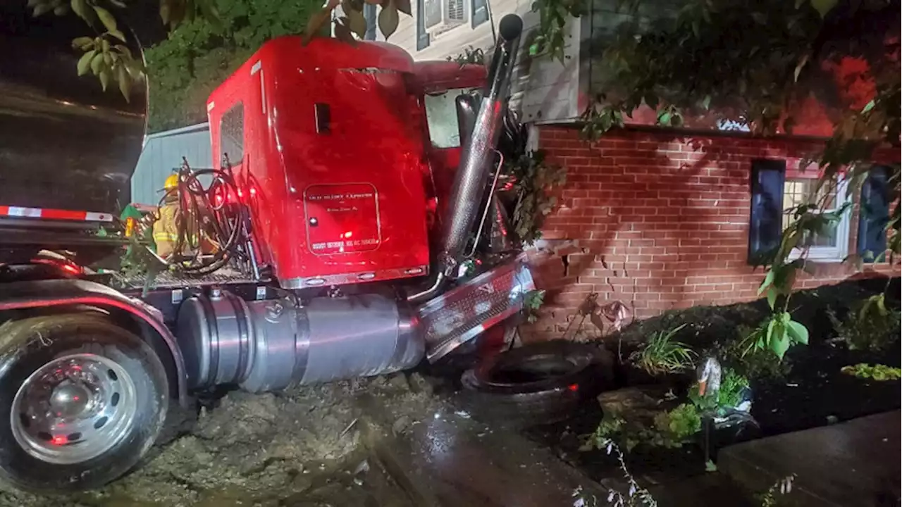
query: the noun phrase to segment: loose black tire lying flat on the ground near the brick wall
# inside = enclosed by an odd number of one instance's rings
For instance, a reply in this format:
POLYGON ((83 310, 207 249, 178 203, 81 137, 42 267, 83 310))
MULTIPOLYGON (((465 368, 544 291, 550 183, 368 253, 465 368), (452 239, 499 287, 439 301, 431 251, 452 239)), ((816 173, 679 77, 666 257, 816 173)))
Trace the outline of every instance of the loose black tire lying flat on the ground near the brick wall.
POLYGON ((522 346, 465 372, 461 395, 483 419, 515 428, 558 422, 594 393, 600 354, 566 340, 522 346))

